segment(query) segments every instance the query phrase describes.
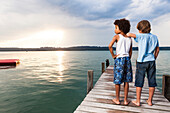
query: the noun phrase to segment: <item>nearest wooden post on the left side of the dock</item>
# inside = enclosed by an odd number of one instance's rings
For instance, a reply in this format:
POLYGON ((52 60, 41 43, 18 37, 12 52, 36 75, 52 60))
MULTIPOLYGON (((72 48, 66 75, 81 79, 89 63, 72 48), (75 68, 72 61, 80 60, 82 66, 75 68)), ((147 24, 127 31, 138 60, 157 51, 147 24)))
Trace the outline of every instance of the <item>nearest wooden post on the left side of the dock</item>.
POLYGON ((87 72, 87 94, 93 88, 93 70, 88 70, 87 72))

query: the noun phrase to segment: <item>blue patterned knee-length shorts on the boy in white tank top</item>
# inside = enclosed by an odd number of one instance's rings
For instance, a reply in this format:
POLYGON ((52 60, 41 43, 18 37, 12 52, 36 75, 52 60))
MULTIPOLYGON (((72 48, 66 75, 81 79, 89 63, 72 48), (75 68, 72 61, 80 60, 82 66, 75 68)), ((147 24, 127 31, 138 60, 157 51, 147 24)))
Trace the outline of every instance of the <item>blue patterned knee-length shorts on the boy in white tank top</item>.
POLYGON ((129 57, 116 58, 114 61, 114 83, 132 82, 132 65, 129 57))

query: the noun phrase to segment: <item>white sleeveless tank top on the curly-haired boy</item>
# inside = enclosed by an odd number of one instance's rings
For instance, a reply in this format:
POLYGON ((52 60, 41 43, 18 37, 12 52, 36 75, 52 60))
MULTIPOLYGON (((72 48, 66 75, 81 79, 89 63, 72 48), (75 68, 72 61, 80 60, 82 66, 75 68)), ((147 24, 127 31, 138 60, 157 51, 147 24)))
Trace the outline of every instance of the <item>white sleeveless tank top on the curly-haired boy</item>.
POLYGON ((116 44, 116 55, 119 55, 117 58, 128 57, 131 44, 131 38, 124 37, 123 35, 119 34, 119 41, 116 44))

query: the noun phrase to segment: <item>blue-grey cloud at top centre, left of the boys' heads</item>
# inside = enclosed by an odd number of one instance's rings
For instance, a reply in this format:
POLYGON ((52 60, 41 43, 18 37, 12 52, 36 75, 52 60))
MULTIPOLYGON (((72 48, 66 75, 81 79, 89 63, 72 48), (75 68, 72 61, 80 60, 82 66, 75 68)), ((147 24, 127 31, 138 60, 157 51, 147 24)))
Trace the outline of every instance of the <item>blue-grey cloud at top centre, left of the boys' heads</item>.
POLYGON ((85 20, 113 19, 126 9, 130 1, 124 0, 50 0, 51 6, 59 7, 71 16, 85 20))

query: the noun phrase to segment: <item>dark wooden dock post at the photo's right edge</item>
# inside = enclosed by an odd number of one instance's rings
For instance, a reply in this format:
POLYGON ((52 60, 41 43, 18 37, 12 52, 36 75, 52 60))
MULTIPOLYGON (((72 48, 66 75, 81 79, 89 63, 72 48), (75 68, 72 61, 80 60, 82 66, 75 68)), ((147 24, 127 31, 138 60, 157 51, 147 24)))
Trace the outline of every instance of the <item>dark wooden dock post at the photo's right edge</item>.
POLYGON ((162 77, 162 94, 170 101, 170 75, 162 77))

